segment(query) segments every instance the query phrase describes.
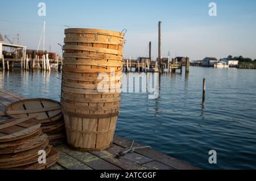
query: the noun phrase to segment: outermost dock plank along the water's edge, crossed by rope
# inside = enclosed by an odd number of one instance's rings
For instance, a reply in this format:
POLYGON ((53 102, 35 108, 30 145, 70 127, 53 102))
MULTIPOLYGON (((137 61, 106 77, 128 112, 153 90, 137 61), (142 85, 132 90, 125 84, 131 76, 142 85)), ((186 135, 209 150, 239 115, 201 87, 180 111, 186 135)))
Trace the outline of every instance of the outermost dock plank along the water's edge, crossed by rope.
MULTIPOLYGON (((123 148, 127 148, 131 145, 132 141, 126 140, 119 136, 114 136, 113 142, 114 142, 114 144, 122 146, 123 148)), ((142 146, 142 145, 135 143, 134 146, 142 146)), ((172 158, 166 154, 160 153, 153 149, 138 149, 138 150, 135 150, 135 153, 138 153, 138 154, 144 155, 145 157, 154 159, 155 161, 163 163, 163 164, 170 166, 174 169, 178 169, 178 170, 195 170, 195 169, 197 170, 197 169, 199 169, 198 167, 191 166, 188 163, 179 161, 176 158, 172 158)))

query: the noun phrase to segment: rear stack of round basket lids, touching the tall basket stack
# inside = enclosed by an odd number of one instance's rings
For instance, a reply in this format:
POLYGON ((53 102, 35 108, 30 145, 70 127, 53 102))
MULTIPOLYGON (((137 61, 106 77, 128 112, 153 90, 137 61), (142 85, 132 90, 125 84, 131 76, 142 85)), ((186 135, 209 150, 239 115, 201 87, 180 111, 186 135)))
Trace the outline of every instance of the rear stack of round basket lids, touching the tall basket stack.
POLYGON ((25 99, 9 104, 6 115, 13 118, 36 116, 51 145, 65 142, 65 128, 60 103, 50 99, 25 99))

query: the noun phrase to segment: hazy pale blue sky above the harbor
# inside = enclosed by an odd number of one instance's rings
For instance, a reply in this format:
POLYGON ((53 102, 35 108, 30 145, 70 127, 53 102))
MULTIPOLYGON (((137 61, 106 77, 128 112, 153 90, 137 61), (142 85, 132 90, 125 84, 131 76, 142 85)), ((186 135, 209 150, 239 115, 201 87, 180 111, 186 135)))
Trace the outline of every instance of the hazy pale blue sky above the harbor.
MULTIPOLYGON (((125 57, 158 56, 158 21, 162 21, 162 54, 188 56, 201 60, 206 56, 256 58, 255 0, 137 0, 137 1, 0 1, 0 32, 20 34, 20 42, 36 49, 46 20, 46 49, 60 53, 64 29, 127 29, 125 57), (46 3, 46 16, 38 16, 38 3, 46 3), (209 3, 217 4, 217 16, 208 14, 209 3)), ((42 48, 41 48, 42 49, 42 48)))

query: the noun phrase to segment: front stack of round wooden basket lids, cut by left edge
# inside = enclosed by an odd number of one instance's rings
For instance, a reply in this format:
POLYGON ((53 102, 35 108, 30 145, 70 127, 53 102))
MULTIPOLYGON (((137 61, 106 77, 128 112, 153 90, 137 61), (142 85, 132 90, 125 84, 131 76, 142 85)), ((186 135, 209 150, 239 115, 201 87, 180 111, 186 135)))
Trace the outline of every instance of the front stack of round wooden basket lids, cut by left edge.
POLYGON ((59 153, 51 148, 34 118, 0 121, 0 169, 46 169, 57 162, 59 153), (40 150, 46 153, 44 164, 38 163, 40 150))

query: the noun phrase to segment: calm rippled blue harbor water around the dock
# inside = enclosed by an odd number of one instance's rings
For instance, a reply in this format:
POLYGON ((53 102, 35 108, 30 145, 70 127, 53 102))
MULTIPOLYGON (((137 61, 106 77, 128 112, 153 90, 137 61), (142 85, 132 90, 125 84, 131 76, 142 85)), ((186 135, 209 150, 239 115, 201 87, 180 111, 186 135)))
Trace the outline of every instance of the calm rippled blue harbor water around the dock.
MULTIPOLYGON (((58 78, 56 71, 0 71, 0 89, 59 100, 58 78)), ((158 99, 123 94, 121 105, 119 136, 203 169, 256 169, 256 70, 192 67, 187 78, 162 74, 158 99), (209 150, 217 151, 216 165, 208 163, 209 150)))

